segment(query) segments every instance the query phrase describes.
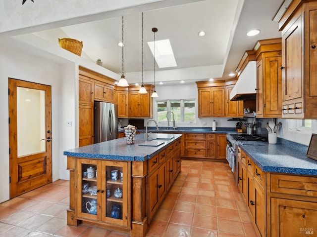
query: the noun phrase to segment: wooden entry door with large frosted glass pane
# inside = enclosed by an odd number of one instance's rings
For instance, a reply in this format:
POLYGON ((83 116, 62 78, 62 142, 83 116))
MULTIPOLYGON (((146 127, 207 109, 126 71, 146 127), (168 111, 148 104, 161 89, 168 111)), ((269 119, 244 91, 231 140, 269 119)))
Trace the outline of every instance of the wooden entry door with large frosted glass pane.
POLYGON ((9 79, 10 198, 52 182, 51 86, 9 79))

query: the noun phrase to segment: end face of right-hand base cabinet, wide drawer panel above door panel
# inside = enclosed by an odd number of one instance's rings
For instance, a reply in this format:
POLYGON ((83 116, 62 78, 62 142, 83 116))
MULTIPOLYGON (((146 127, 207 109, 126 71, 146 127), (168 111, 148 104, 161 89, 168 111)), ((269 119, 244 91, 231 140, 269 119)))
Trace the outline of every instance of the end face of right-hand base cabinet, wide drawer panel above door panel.
POLYGON ((317 177, 267 174, 268 237, 317 236, 317 177))

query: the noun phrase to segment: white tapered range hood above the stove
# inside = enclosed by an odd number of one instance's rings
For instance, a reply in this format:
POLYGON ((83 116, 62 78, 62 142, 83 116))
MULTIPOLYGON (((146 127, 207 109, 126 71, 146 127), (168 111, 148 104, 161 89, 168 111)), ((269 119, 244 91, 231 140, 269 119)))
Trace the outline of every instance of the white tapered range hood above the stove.
POLYGON ((257 88, 256 61, 250 61, 230 93, 230 100, 255 100, 257 88))

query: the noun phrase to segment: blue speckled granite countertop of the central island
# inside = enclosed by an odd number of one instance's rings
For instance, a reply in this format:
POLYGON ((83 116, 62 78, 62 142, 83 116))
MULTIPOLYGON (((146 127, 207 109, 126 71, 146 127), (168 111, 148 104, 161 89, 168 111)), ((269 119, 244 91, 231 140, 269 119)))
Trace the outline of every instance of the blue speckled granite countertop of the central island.
MULTIPOLYGON (((172 142, 180 139, 182 134, 173 134, 173 136, 174 137, 172 139, 164 141, 162 145, 159 145, 157 147, 150 147, 139 146, 139 144, 145 143, 145 134, 137 134, 135 136, 135 144, 133 145, 127 145, 125 138, 119 138, 64 151, 64 155, 83 158, 144 161, 154 157, 160 151, 168 147, 172 142)), ((151 134, 150 140, 155 138, 156 134, 151 134)))

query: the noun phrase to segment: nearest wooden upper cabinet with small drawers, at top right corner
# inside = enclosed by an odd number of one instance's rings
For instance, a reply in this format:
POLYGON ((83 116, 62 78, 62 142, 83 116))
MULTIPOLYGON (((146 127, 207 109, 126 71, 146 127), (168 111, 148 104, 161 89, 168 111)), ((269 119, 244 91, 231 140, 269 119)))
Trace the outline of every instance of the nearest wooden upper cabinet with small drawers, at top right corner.
POLYGON ((317 2, 292 1, 282 31, 282 118, 317 118, 317 2))

